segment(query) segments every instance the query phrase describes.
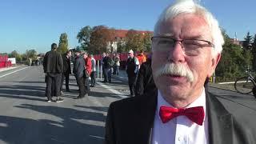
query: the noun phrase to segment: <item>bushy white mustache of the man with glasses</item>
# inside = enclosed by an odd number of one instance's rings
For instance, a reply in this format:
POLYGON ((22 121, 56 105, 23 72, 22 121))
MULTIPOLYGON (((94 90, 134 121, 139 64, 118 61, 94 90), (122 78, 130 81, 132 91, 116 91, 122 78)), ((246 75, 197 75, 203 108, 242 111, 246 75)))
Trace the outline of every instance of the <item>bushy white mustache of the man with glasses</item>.
POLYGON ((165 66, 160 67, 156 71, 155 76, 160 77, 162 75, 168 75, 168 74, 180 76, 180 77, 186 77, 189 82, 194 82, 194 75, 192 71, 188 67, 180 63, 178 64, 166 63, 165 66))

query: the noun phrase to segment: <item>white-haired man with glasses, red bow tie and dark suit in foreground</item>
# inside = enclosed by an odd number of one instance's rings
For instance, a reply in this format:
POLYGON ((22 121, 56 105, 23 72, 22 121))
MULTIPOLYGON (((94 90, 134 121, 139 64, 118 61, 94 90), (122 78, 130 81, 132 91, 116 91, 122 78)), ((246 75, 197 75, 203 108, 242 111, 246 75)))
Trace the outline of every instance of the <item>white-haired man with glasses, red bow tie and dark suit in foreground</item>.
POLYGON ((178 0, 162 12, 151 39, 158 90, 110 104, 106 144, 254 144, 256 110, 208 93, 224 44, 214 16, 178 0))

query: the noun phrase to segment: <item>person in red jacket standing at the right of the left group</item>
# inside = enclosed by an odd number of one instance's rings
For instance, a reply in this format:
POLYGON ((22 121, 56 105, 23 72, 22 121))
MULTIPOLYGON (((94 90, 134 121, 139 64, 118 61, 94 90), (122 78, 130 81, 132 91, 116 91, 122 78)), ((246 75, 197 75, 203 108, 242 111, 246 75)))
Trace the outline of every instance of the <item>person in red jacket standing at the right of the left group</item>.
POLYGON ((88 94, 90 92, 89 77, 91 73, 91 59, 90 57, 88 57, 87 53, 83 54, 83 58, 85 60, 84 79, 85 79, 85 86, 86 86, 86 94, 88 94))

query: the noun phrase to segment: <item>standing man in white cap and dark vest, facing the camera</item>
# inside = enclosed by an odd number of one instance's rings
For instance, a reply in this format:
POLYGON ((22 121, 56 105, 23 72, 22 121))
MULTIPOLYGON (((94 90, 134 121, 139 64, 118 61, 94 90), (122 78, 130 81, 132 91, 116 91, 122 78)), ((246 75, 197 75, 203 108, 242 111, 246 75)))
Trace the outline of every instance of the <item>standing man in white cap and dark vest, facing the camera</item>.
POLYGON ((130 88, 130 96, 134 97, 135 82, 138 74, 138 58, 134 57, 134 51, 129 51, 129 58, 126 62, 126 73, 128 75, 128 84, 130 88))

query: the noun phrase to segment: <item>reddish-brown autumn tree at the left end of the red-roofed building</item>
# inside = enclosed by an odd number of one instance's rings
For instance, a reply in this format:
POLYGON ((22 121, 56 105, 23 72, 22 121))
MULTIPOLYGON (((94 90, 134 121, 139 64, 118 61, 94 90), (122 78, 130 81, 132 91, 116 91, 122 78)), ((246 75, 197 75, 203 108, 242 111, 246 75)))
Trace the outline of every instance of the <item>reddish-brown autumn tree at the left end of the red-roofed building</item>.
POLYGON ((107 44, 111 41, 110 30, 106 26, 94 26, 90 34, 90 46, 88 51, 93 54, 101 54, 107 51, 107 44))

